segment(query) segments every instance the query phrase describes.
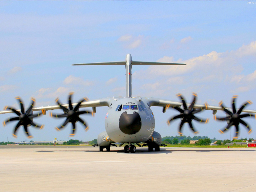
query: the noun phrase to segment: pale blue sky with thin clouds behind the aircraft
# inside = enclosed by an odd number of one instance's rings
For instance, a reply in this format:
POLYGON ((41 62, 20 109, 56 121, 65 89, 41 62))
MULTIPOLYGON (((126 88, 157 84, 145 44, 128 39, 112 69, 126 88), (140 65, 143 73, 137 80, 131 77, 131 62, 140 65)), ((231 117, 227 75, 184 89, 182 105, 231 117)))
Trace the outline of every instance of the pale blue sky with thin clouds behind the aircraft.
MULTIPOLYGON (((74 63, 121 61, 132 54, 133 60, 181 62, 187 66, 133 66, 132 95, 187 102, 191 93, 198 103, 230 105, 256 103, 256 6, 247 1, 0 1, 0 96, 5 105, 18 107, 20 96, 28 106, 35 97, 36 106, 53 105, 59 96, 64 103, 74 91, 74 101, 82 97, 98 99, 125 95, 124 66, 70 66, 74 63)), ((238 106, 237 106, 238 108, 238 106)), ((248 109, 256 109, 255 104, 248 109)), ((90 125, 84 132, 77 124, 74 139, 92 140, 105 131, 108 108, 97 108, 94 118, 83 116, 90 125)), ((179 121, 167 126, 176 114, 152 107, 156 131, 162 136, 177 135, 179 121)), ((56 111, 58 112, 58 111, 56 111)), ((219 116, 225 113, 218 112, 219 116)), ((0 120, 14 114, 4 114, 0 120)), ((62 120, 46 116, 36 119, 44 130, 29 127, 33 140, 66 140, 71 126, 56 132, 62 120)), ((198 115, 199 116, 199 115, 198 115)), ((218 130, 225 122, 214 122, 211 111, 200 114, 210 123, 194 122, 199 135, 229 138, 218 130)), ((256 122, 246 119, 254 132, 256 122)), ((1 127, 0 140, 12 138, 15 123, 1 127)), ((247 136, 241 126, 240 135, 247 136)), ((192 136, 187 124, 184 134, 192 136)), ((234 128, 231 130, 231 137, 234 128)))

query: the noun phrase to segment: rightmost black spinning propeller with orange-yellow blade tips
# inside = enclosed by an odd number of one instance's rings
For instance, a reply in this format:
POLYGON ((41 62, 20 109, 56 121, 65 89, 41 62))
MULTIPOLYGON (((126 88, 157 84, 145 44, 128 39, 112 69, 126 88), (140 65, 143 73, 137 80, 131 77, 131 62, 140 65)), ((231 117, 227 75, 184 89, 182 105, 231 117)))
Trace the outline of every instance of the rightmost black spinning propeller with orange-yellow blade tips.
POLYGON ((232 109, 233 109, 233 113, 231 111, 229 111, 228 109, 226 109, 222 104, 223 104, 223 101, 220 101, 219 105, 223 108, 223 110, 227 113, 227 117, 217 117, 216 115, 213 116, 213 118, 215 120, 220 120, 220 121, 229 121, 228 123, 228 126, 225 127, 223 130, 219 130, 219 132, 221 134, 223 134, 225 131, 227 131, 231 126, 235 126, 236 127, 236 135, 235 137, 233 137, 234 139, 237 139, 238 138, 238 133, 239 133, 239 123, 243 124, 245 126, 245 128, 248 130, 248 133, 251 134, 252 133, 252 129, 250 128, 250 126, 245 123, 242 118, 244 117, 251 117, 252 114, 250 113, 245 113, 245 114, 242 114, 242 110, 246 107, 247 104, 252 104, 252 101, 248 100, 246 101, 238 111, 236 111, 236 98, 237 98, 237 95, 234 95, 233 96, 233 101, 232 101, 232 109))

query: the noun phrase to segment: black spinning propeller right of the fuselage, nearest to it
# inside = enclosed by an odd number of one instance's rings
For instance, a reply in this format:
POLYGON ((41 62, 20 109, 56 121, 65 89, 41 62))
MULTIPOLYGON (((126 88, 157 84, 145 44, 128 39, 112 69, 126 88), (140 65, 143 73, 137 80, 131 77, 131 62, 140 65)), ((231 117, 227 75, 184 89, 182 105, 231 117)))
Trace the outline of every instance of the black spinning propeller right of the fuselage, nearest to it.
MULTIPOLYGON (((167 124, 170 125, 171 121, 173 121, 174 119, 178 119, 178 118, 181 118, 181 123, 180 123, 180 128, 179 128, 179 134, 182 135, 182 132, 181 132, 181 129, 182 129, 182 126, 184 123, 188 123, 189 124, 189 127, 190 129, 194 132, 194 134, 198 134, 199 132, 195 130, 195 128, 193 127, 193 124, 192 124, 192 120, 195 119, 196 121, 198 122, 205 122, 205 123, 208 123, 209 122, 209 119, 207 118, 206 120, 204 119, 199 119, 197 118, 194 114, 198 113, 198 112, 201 112, 203 111, 205 108, 207 108, 207 104, 205 104, 205 107, 202 107, 200 109, 193 109, 195 103, 196 103, 196 97, 197 97, 197 94, 196 93, 192 93, 192 95, 194 95, 194 99, 192 101, 192 103, 190 104, 189 107, 187 107, 186 105, 186 101, 185 99, 182 97, 182 95, 180 93, 178 93, 176 96, 177 97, 180 97, 182 103, 183 103, 183 108, 184 109, 181 109, 181 108, 178 108, 178 107, 173 107, 174 109, 176 109, 177 111, 180 112, 180 115, 177 115, 177 116, 174 116, 172 118, 170 118, 168 121, 167 121, 167 124)), ((170 104, 169 105, 166 105, 166 108, 168 109, 170 107, 170 104)))

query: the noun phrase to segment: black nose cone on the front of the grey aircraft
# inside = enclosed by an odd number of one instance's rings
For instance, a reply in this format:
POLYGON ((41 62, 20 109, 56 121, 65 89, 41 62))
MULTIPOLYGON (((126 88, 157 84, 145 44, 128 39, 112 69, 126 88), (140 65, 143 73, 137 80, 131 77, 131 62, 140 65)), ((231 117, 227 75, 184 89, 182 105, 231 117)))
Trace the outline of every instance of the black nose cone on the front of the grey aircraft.
POLYGON ((132 135, 140 131, 141 128, 141 118, 139 113, 136 111, 133 114, 127 114, 123 112, 119 119, 119 129, 127 134, 132 135))

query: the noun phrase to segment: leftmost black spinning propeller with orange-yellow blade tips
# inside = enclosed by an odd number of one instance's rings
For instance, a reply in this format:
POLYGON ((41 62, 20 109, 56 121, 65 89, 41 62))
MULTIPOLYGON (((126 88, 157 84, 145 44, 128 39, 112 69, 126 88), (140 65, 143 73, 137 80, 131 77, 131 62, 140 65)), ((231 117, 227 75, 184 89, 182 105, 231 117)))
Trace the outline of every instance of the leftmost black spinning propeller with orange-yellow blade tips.
POLYGON ((12 118, 9 118, 9 119, 5 120, 3 122, 3 125, 5 127, 6 124, 10 123, 11 121, 19 121, 18 124, 15 126, 14 132, 12 134, 13 137, 17 138, 16 132, 18 131, 20 125, 22 125, 24 127, 25 133, 28 135, 28 138, 31 139, 31 138, 33 138, 33 136, 29 134, 28 126, 32 125, 36 128, 43 129, 44 125, 39 125, 39 124, 34 123, 33 118, 38 117, 42 114, 45 114, 45 110, 42 110, 42 113, 37 113, 37 114, 33 115, 31 113, 31 110, 34 107, 34 103, 36 102, 35 98, 31 97, 32 102, 31 102, 30 107, 28 108, 28 110, 26 112, 24 110, 23 102, 20 99, 20 97, 16 97, 15 99, 19 101, 21 110, 16 110, 16 109, 14 109, 12 107, 9 107, 9 106, 5 106, 4 110, 6 110, 6 109, 12 110, 16 115, 18 115, 18 117, 12 117, 12 118))

